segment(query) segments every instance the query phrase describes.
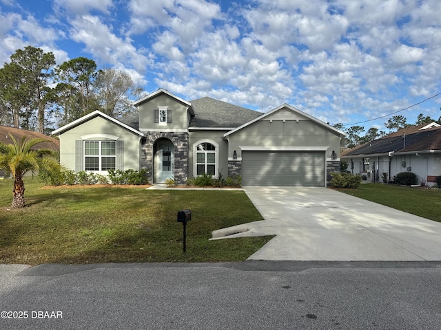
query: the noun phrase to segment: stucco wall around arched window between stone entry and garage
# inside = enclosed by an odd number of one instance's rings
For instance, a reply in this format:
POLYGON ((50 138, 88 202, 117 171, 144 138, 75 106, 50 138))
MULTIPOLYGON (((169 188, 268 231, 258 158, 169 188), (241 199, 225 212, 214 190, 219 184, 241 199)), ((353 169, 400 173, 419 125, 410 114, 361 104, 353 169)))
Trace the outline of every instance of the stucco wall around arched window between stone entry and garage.
MULTIPOLYGON (((228 142, 223 139, 227 131, 190 131, 189 132, 189 177, 196 176, 194 173, 194 146, 203 140, 213 141, 219 145, 218 170, 223 178, 228 176, 228 142)), ((206 141, 206 142, 209 142, 206 141)), ((233 154, 232 154, 233 155, 233 154)), ((232 157, 232 155, 230 157, 232 157)), ((217 175, 218 173, 216 173, 217 175)))

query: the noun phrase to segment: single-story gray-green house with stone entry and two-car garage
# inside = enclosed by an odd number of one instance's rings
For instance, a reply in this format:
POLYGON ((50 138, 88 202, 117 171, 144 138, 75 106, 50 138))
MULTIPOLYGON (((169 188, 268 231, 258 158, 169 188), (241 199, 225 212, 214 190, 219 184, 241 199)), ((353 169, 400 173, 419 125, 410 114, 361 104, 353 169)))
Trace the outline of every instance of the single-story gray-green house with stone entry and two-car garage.
POLYGON ((326 186, 340 168, 345 133, 288 104, 259 113, 158 89, 134 105, 136 118, 94 111, 55 130, 61 164, 101 174, 146 169, 153 184, 241 175, 243 186, 326 186))

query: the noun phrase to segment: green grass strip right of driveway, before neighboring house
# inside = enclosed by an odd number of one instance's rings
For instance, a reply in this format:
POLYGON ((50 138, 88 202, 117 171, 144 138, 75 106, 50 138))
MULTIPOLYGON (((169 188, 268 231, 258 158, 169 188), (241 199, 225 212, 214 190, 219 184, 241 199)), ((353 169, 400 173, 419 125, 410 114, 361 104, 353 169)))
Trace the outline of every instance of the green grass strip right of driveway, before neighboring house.
POLYGON ((441 189, 421 189, 390 184, 362 184, 358 189, 338 189, 348 195, 375 201, 397 210, 441 222, 441 189))

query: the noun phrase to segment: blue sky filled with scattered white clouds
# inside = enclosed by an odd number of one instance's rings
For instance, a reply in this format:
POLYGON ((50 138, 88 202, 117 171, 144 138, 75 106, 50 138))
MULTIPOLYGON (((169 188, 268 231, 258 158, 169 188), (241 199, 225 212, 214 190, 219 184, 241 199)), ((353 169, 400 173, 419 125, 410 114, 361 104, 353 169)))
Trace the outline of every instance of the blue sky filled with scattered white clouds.
MULTIPOLYGON (((26 45, 145 91, 352 124, 441 92, 439 0, 0 0, 0 65, 26 45)), ((441 116, 441 96, 396 114, 441 116)), ((384 129, 391 116, 360 124, 384 129)))

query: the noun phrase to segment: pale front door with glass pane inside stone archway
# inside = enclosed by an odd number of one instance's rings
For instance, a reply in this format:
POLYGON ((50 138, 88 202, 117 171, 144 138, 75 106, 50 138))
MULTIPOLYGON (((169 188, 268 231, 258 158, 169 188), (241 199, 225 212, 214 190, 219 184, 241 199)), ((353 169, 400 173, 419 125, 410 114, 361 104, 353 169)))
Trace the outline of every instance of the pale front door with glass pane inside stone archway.
POLYGON ((156 183, 164 183, 174 175, 174 146, 170 140, 156 142, 155 156, 156 183))

